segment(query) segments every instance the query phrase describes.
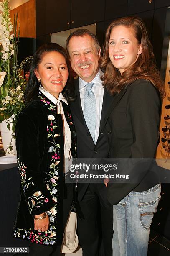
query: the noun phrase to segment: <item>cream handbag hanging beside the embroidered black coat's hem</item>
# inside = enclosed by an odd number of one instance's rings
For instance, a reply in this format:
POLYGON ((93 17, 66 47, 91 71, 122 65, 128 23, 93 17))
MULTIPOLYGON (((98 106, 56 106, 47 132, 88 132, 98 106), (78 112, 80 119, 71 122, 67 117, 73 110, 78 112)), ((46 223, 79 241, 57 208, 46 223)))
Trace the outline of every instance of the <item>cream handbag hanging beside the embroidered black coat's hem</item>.
POLYGON ((78 247, 79 240, 76 235, 77 231, 77 214, 69 212, 69 217, 66 223, 63 234, 63 243, 61 245, 61 253, 73 253, 78 247))

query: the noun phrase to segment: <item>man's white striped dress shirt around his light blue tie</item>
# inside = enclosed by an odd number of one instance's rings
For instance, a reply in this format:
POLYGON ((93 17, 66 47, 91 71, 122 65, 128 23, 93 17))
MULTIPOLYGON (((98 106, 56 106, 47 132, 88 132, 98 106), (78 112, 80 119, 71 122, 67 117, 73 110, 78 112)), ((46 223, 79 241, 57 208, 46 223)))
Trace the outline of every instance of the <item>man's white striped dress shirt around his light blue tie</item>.
MULTIPOLYGON (((94 92, 96 98, 96 129, 95 129, 95 143, 99 137, 99 128, 100 128, 100 119, 101 119, 101 110, 103 105, 103 94, 104 87, 100 77, 103 75, 103 72, 99 69, 99 72, 96 74, 96 77, 91 81, 93 84, 92 92, 94 92)), ((84 94, 86 92, 86 84, 84 80, 79 77, 79 90, 80 90, 80 100, 82 110, 84 109, 84 94)), ((90 113, 89 113, 90 115, 90 113)))

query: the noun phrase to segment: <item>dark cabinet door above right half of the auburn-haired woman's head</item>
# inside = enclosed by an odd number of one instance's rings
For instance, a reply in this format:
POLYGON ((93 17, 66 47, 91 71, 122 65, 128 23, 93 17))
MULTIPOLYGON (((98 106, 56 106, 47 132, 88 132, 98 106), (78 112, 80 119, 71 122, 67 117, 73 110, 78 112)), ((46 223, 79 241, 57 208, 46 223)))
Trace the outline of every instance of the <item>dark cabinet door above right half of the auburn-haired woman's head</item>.
POLYGON ((155 0, 128 0, 127 15, 153 10, 154 3, 155 0))

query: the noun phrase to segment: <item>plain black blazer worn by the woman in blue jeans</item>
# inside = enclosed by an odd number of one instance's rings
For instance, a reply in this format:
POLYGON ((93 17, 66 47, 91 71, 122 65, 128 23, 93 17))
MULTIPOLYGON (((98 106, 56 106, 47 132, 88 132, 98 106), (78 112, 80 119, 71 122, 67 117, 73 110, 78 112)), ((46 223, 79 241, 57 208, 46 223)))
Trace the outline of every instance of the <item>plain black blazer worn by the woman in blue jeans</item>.
MULTIPOLYGON (((157 89, 145 79, 135 80, 118 95, 114 95, 104 119, 105 133, 112 131, 110 157, 153 159, 160 134, 160 108, 157 89)), ((147 177, 143 180, 146 171, 140 173, 139 183, 109 183, 109 202, 117 204, 132 190, 143 191, 152 187, 145 183, 147 177)))

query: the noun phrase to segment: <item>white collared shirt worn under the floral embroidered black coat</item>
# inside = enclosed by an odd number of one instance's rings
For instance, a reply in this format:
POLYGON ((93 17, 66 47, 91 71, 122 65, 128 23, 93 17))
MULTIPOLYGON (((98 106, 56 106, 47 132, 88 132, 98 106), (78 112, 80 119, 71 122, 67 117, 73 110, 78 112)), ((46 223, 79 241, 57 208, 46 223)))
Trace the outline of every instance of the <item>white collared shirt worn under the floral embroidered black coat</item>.
MULTIPOLYGON (((62 100, 68 105, 67 100, 60 92, 58 99, 54 97, 50 92, 46 91, 40 85, 40 91, 45 95, 51 102, 53 102, 57 106, 57 112, 60 113, 60 101, 62 100)), ((63 106, 61 104, 61 116, 63 120, 63 135, 64 135, 64 173, 68 172, 70 169, 70 165, 72 164, 72 155, 71 155, 71 131, 69 125, 66 121, 66 117, 64 115, 63 106)))

